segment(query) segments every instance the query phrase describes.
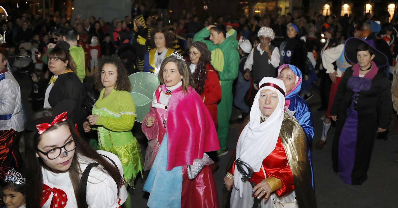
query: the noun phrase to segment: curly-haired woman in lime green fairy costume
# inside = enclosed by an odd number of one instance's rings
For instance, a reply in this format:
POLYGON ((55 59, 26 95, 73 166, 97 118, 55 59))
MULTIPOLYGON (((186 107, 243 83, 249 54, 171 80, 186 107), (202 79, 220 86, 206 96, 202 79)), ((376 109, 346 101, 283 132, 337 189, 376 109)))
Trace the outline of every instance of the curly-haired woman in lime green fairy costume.
MULTIPOLYGON (((135 104, 129 91, 131 84, 120 59, 103 57, 98 61, 96 88, 101 90, 92 115, 84 122, 84 132, 96 128, 98 149, 117 155, 127 184, 134 187, 134 179, 142 172, 140 146, 131 133, 135 121, 135 104)), ((129 200, 127 200, 129 201, 129 200)))

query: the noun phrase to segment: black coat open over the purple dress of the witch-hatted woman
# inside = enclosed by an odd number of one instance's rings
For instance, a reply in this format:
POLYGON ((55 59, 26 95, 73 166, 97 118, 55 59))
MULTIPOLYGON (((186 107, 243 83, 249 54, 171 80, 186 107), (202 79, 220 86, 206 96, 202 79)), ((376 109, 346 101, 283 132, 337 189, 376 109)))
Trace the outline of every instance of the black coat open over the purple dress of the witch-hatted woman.
MULTIPOLYGON (((349 79, 353 74, 352 67, 345 70, 338 85, 330 114, 337 115, 336 133, 332 144, 333 168, 338 171, 339 139, 347 118, 347 109, 351 106, 353 89, 349 87, 349 79)), ((378 70, 371 80, 369 90, 357 93, 355 110, 358 113, 357 143, 355 146, 355 162, 352 172, 352 184, 361 184, 367 179, 373 144, 377 128, 387 129, 392 113, 390 82, 384 71, 378 70)))

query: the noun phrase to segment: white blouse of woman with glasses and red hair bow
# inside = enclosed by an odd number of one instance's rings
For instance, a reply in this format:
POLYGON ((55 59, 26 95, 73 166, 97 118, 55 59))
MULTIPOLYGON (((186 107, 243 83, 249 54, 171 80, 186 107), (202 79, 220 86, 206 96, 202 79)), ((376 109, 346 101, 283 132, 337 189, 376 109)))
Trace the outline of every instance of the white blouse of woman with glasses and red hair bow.
MULTIPOLYGON (((119 172, 123 176, 123 168, 121 162, 116 155, 106 151, 97 151, 100 155, 106 155, 113 160, 119 168, 119 172)), ((105 157, 105 159, 107 159, 105 157)), ((78 156, 81 171, 84 172, 87 165, 94 162, 90 158, 78 156)), ((112 162, 109 162, 113 165, 112 162)), ((101 165, 93 167, 87 179, 87 194, 86 201, 88 208, 119 208, 127 198, 127 190, 125 185, 120 189, 117 187, 115 181, 106 172, 103 172, 101 165), (119 196, 117 191, 119 189, 119 196)), ((66 193, 67 202, 65 208, 76 208, 77 202, 73 190, 72 182, 69 178, 69 172, 56 174, 47 169, 41 168, 43 174, 43 183, 50 188, 61 189, 66 193)), ((81 175, 80 175, 81 177, 81 175)), ((43 191, 44 192, 44 191, 43 191)), ((43 208, 51 208, 51 200, 53 198, 51 193, 48 200, 42 206, 43 208)))

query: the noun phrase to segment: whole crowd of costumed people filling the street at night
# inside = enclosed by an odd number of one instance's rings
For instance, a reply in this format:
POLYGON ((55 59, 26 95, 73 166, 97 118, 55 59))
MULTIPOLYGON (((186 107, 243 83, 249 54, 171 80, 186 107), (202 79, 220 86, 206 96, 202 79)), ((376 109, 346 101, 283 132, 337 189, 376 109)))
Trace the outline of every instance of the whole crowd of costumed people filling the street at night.
POLYGON ((2 15, 2 202, 130 208, 127 189, 148 171, 148 207, 218 208, 215 158, 230 153, 230 207, 316 207, 311 151, 324 147, 332 122, 332 170, 361 185, 375 139, 386 138, 398 110, 398 19, 388 17, 294 11, 213 20, 187 10, 158 16, 145 4, 111 22, 2 15), (136 120, 129 75, 142 72, 160 85, 136 120), (31 115, 14 78, 24 73, 31 115), (314 84, 325 111, 320 138, 306 103, 314 84), (242 128, 228 150, 231 122, 242 128))

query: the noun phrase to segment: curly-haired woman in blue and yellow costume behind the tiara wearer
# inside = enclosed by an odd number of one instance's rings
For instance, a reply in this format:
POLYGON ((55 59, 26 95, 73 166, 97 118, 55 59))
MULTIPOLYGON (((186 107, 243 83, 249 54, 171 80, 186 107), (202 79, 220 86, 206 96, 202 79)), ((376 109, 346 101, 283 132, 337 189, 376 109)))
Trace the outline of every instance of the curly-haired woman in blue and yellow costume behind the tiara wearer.
POLYGON ((142 71, 158 75, 164 58, 177 52, 173 49, 174 37, 167 29, 156 28, 152 30, 150 42, 153 49, 145 53, 142 71))

